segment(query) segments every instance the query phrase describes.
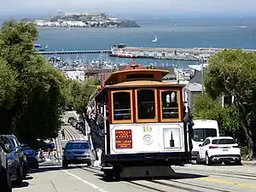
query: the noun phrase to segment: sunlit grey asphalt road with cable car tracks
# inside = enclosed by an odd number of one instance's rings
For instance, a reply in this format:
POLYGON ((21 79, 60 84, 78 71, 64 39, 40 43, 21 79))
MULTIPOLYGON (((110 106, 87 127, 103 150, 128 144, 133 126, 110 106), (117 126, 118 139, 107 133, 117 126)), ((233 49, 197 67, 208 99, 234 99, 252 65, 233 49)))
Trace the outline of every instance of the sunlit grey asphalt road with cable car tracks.
MULTIPOLYGON (((65 125, 67 139, 83 137, 72 126, 65 125)), ((56 139, 57 150, 67 141, 56 139)), ((61 152, 59 152, 61 154, 61 152)), ((107 182, 95 167, 69 166, 47 162, 37 172, 29 173, 17 192, 254 192, 256 166, 173 166, 175 175, 168 179, 131 179, 107 182)))

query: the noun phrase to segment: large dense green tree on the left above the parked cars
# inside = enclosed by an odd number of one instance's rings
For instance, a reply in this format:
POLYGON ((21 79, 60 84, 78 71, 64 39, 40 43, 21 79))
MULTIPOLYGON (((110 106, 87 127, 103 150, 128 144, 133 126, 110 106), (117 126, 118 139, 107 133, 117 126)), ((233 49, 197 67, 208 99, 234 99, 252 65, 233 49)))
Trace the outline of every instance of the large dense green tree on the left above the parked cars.
POLYGON ((6 21, 0 31, 0 132, 32 146, 38 138, 57 136, 65 106, 66 79, 36 53, 37 39, 34 23, 6 21))

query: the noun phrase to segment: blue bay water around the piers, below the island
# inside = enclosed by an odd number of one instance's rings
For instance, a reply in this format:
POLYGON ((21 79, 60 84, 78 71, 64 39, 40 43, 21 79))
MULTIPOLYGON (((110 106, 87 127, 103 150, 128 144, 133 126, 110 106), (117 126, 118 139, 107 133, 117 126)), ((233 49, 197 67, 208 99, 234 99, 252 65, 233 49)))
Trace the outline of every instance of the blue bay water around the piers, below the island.
MULTIPOLYGON (((49 50, 110 49, 113 44, 137 47, 215 47, 256 49, 256 23, 254 19, 194 19, 194 20, 137 20, 140 28, 66 28, 38 27, 38 44, 49 50), (243 27, 246 26, 246 27, 243 27), (158 42, 152 43, 154 35, 158 42)), ((84 55, 72 55, 72 57, 84 55)), ((67 57, 67 55, 66 55, 67 57)), ((98 55, 87 55, 93 59, 98 55)), ((119 59, 121 61, 122 59, 119 59)), ((171 62, 179 67, 195 64, 190 61, 171 62)))

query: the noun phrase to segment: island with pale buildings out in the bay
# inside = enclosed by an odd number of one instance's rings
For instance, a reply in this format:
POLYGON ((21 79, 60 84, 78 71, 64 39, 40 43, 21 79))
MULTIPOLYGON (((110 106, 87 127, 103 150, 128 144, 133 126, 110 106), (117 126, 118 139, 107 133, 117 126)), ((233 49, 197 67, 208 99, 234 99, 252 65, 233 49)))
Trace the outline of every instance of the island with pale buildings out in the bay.
POLYGON ((38 26, 59 27, 140 27, 135 20, 119 20, 105 13, 67 12, 50 16, 48 20, 34 20, 38 26))

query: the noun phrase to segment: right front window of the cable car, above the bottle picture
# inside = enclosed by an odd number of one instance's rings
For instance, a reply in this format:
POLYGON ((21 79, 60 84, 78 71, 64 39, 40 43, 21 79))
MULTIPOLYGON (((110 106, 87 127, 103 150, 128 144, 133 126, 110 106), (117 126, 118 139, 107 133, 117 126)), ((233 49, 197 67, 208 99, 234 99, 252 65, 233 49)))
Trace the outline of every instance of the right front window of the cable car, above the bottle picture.
POLYGON ((177 91, 166 90, 161 92, 162 119, 178 119, 177 91))

